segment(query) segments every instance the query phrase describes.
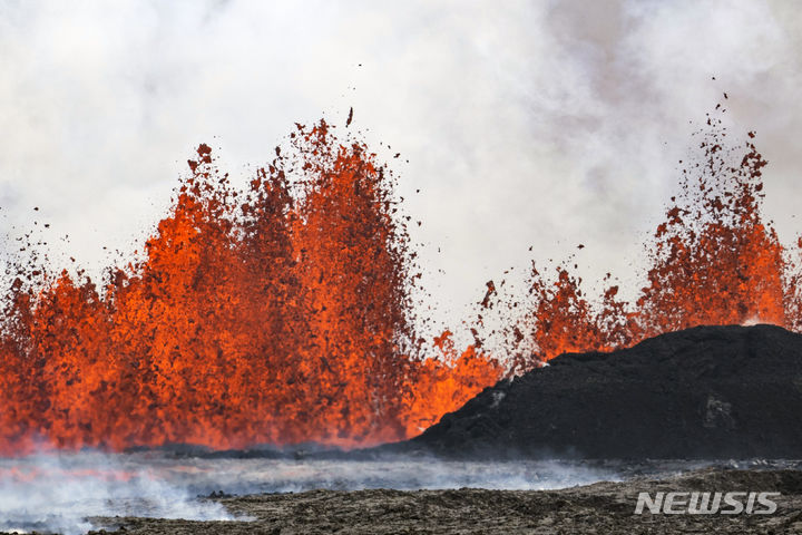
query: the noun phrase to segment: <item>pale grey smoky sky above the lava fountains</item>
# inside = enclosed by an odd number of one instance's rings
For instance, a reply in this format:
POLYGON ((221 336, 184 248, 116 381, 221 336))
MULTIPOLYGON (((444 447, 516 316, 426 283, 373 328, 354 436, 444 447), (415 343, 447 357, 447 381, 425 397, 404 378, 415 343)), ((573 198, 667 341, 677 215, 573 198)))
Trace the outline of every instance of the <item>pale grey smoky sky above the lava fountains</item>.
POLYGON ((0 0, 0 225, 36 215, 90 271, 141 244, 198 143, 244 181, 294 121, 351 106, 392 146, 451 324, 488 279, 579 243, 586 279, 635 288, 688 121, 723 91, 770 160, 769 216, 802 230, 791 0, 67 3, 0 0))

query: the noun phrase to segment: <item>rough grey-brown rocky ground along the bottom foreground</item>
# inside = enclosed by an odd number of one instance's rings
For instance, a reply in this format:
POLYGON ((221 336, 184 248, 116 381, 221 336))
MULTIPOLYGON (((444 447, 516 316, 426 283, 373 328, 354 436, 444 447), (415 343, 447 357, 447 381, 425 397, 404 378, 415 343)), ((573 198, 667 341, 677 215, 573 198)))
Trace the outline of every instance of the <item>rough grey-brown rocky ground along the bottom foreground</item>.
MULTIPOLYGON (((802 471, 706 468, 561 490, 313 490, 214 496, 242 522, 96 518, 126 534, 802 533, 802 471), (771 515, 635 515, 639 492, 776 492, 771 515)), ((92 532, 92 533, 102 533, 92 532)))

